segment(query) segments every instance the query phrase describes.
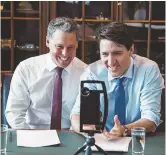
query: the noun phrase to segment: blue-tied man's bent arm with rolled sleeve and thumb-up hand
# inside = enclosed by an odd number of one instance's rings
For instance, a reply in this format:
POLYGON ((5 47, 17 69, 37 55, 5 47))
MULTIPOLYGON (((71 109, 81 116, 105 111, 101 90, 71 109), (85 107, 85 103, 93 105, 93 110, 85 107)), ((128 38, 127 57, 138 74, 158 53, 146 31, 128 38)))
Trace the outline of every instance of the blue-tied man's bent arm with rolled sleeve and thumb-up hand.
MULTIPOLYGON (((151 68, 147 69, 144 81, 144 86, 140 92, 141 118, 126 125, 129 134, 131 134, 133 127, 144 127, 146 132, 154 131, 160 123, 160 101, 164 82, 157 64, 153 64, 151 68)), ((125 130, 124 126, 117 118, 114 118, 114 122, 115 126, 110 132, 106 132, 106 135, 110 135, 110 137, 122 136, 125 130)))

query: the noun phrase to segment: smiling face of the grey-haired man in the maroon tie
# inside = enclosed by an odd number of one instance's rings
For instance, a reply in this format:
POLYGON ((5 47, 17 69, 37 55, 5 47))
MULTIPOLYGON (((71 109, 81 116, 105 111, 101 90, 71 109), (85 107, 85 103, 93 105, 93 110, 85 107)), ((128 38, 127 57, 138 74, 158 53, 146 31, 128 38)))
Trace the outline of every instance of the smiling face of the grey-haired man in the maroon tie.
POLYGON ((52 60, 61 68, 67 67, 76 56, 78 46, 75 32, 56 30, 52 37, 46 40, 52 60))

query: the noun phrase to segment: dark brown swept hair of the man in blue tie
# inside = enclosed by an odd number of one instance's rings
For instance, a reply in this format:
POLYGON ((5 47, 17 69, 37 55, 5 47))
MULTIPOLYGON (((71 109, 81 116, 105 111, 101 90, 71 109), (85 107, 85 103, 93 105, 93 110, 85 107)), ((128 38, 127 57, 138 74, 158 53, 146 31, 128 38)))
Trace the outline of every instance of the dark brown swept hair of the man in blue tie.
POLYGON ((133 39, 129 34, 128 26, 122 22, 112 22, 106 25, 100 26, 97 30, 98 42, 102 39, 107 39, 115 42, 117 45, 124 45, 127 50, 130 49, 133 39))

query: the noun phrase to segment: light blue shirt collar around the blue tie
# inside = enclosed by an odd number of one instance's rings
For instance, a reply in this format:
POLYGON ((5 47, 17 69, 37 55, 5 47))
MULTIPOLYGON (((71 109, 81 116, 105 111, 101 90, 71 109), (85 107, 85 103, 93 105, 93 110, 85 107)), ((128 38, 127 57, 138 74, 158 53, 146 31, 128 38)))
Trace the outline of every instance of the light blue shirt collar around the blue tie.
MULTIPOLYGON (((130 66, 129 66, 128 70, 121 77, 126 77, 126 78, 130 78, 130 79, 132 78, 133 66, 134 66, 134 60, 133 60, 132 56, 130 57, 130 60, 131 60, 131 63, 130 63, 130 66)), ((121 77, 119 77, 119 78, 121 78, 121 77)), ((108 81, 112 81, 115 78, 117 78, 117 77, 112 77, 108 72, 108 81)))

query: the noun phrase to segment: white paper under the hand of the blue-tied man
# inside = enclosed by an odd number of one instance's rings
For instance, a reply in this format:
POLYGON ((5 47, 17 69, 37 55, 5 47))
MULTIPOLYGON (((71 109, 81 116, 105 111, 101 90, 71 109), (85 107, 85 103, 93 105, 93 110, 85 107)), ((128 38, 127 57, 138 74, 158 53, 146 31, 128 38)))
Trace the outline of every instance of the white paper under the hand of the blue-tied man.
MULTIPOLYGON (((101 147, 104 151, 118 151, 128 152, 131 137, 119 137, 114 140, 108 140, 103 134, 95 134, 95 144, 101 147)), ((93 151, 98 151, 95 146, 92 147, 93 151)))

